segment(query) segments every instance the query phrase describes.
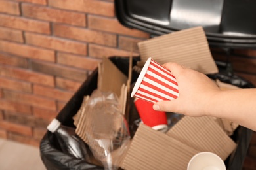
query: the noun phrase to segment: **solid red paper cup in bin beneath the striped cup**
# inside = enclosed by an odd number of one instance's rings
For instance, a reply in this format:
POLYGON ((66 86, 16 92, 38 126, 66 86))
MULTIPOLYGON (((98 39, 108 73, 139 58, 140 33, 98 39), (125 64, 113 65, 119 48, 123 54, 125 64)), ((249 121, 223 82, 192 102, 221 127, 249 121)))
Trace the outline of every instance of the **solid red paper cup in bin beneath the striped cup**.
POLYGON ((135 107, 139 113, 143 124, 152 127, 152 129, 165 132, 167 131, 166 112, 160 112, 153 109, 153 103, 136 98, 135 107))

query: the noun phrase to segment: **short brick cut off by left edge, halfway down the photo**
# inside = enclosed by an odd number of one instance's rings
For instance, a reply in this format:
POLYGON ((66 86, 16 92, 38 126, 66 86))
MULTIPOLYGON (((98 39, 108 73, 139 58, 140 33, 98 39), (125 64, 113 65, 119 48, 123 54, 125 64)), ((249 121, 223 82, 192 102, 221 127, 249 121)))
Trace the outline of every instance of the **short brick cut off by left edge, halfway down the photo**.
POLYGON ((4 78, 2 76, 0 76, 0 82, 0 88, 14 90, 18 92, 32 92, 32 85, 28 82, 12 80, 10 78, 4 78))

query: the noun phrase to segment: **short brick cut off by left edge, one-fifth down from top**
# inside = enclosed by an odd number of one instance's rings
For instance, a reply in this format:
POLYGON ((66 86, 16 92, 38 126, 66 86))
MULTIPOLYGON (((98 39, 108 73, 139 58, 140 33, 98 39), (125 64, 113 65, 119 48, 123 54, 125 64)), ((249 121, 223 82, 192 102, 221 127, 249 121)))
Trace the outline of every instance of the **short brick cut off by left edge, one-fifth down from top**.
POLYGON ((4 27, 0 27, 0 39, 14 42, 24 42, 22 31, 4 27))

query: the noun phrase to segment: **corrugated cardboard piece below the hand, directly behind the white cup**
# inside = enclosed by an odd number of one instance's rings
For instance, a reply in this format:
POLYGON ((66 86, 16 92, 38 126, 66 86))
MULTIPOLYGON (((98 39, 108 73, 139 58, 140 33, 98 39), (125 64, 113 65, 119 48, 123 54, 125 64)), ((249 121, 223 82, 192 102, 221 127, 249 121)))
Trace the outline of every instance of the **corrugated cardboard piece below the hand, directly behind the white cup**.
POLYGON ((184 116, 166 135, 200 152, 213 152, 223 160, 236 148, 236 143, 208 116, 184 116))

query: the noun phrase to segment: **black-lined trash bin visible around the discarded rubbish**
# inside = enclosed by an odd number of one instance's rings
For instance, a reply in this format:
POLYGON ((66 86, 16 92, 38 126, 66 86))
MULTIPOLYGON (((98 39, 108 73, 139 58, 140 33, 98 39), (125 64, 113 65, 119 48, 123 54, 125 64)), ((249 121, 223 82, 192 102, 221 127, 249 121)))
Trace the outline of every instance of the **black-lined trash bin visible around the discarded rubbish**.
MULTIPOLYGON (((129 68, 129 58, 125 57, 111 57, 110 60, 125 74, 128 75, 129 68)), ((133 65, 139 61, 139 57, 133 58, 133 65)), ((228 65, 225 63, 217 63, 219 67, 219 73, 208 75, 210 78, 219 79, 221 82, 226 82, 238 86, 240 88, 253 88, 253 84, 247 82, 246 80, 234 75, 230 72, 228 65)), ((133 79, 131 82, 137 80, 138 73, 133 72, 133 79)), ((81 107, 83 97, 85 95, 90 95, 93 90, 97 88, 97 77, 98 70, 96 69, 91 73, 85 82, 81 85, 79 90, 74 94, 74 96, 68 101, 65 107, 59 112, 56 119, 60 120, 62 125, 68 127, 75 127, 73 116, 77 113, 81 107)), ((131 103, 130 105, 130 115, 137 114, 135 112, 135 106, 131 103)), ((131 121, 132 122, 132 121, 131 121)), ((131 127, 130 125, 130 128, 131 127)), ((225 164, 227 169, 242 169, 244 158, 247 154, 247 148, 251 141, 252 131, 245 127, 239 126, 231 138, 237 143, 236 150, 230 154, 226 159, 225 164)), ((40 154, 41 160, 43 161, 47 169, 104 169, 103 167, 87 163, 84 160, 79 160, 68 154, 64 154, 60 151, 56 136, 53 133, 47 131, 43 139, 41 139, 40 144, 40 154)))

